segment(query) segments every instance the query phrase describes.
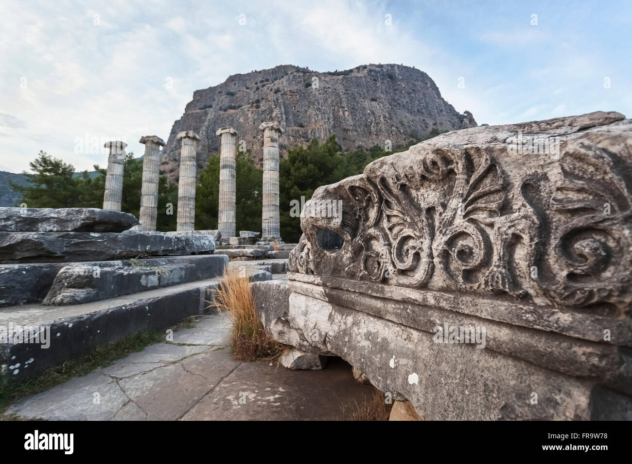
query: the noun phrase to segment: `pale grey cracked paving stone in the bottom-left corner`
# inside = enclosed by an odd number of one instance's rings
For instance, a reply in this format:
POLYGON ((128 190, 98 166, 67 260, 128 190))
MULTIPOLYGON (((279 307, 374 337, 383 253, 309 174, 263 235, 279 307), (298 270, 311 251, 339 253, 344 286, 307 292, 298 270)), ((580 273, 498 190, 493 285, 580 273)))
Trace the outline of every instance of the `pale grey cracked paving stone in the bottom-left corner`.
POLYGON ((9 407, 7 413, 25 419, 108 420, 127 402, 114 380, 93 372, 29 396, 9 407))

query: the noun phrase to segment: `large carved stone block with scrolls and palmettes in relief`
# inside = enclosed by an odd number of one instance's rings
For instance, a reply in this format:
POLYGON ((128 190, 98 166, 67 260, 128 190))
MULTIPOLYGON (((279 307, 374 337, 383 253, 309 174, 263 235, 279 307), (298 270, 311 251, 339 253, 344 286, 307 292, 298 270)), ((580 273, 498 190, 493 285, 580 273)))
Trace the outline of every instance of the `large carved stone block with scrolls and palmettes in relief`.
POLYGON ((614 112, 486 126, 320 187, 266 328, 424 419, 632 419, 631 146, 614 112))

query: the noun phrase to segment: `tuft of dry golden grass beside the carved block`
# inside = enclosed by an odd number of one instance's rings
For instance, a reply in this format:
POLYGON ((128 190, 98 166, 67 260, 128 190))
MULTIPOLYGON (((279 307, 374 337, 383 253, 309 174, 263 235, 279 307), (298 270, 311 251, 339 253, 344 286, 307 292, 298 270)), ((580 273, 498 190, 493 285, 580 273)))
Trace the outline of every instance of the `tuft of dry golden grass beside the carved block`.
POLYGON ((226 313, 233 324, 233 358, 252 362, 274 359, 283 352, 283 345, 265 333, 255 311, 255 299, 248 277, 240 277, 236 270, 224 270, 222 282, 213 290, 214 304, 226 313))

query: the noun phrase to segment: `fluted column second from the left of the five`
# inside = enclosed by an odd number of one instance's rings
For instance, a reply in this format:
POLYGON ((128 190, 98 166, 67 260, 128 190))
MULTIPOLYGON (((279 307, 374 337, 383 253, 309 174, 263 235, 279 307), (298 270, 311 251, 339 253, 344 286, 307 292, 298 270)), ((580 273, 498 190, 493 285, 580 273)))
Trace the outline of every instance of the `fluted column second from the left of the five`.
POLYGON ((156 230, 158 214, 158 177, 160 164, 160 147, 164 141, 155 135, 141 137, 140 143, 145 144, 143 156, 143 183, 140 187, 140 230, 153 232, 156 230))

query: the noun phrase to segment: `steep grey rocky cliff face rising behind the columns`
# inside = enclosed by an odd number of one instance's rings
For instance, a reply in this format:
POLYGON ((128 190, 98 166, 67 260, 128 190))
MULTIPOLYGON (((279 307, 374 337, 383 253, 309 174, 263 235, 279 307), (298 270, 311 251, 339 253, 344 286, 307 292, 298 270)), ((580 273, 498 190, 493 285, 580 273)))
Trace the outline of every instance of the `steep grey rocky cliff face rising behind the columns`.
POLYGON ((263 156, 265 121, 278 121, 284 129, 279 140, 281 157, 287 148, 305 145, 312 138, 332 134, 344 150, 358 145, 392 146, 432 131, 453 131, 477 126, 470 112, 459 114, 443 98, 428 74, 399 64, 368 64, 334 73, 317 73, 283 65, 235 74, 220 85, 196 90, 185 114, 174 122, 163 150, 161 169, 178 176, 180 131, 200 135, 198 167, 210 153, 219 152, 217 128, 232 126, 238 141, 245 141, 255 162, 263 156))

